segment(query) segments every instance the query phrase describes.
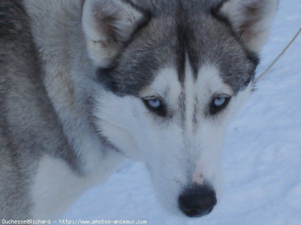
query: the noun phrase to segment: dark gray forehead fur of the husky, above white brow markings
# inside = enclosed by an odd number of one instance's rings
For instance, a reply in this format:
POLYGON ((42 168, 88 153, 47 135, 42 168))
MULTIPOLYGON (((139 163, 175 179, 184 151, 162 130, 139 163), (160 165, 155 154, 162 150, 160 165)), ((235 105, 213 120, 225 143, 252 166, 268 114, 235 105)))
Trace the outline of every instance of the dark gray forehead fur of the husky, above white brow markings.
POLYGON ((109 76, 120 94, 137 96, 162 68, 174 66, 173 74, 183 84, 187 61, 194 79, 202 75, 199 71, 204 64, 213 64, 219 68, 222 80, 237 93, 254 76, 254 58, 231 27, 209 12, 167 13, 151 18, 134 34, 109 76))

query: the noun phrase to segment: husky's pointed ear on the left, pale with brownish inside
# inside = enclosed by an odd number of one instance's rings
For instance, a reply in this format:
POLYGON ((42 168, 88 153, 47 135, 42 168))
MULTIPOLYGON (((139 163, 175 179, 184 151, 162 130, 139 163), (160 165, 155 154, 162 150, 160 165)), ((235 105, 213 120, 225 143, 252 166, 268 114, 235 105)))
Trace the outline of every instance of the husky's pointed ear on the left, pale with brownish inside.
POLYGON ((82 25, 89 56, 107 67, 145 16, 128 0, 85 0, 82 25))

